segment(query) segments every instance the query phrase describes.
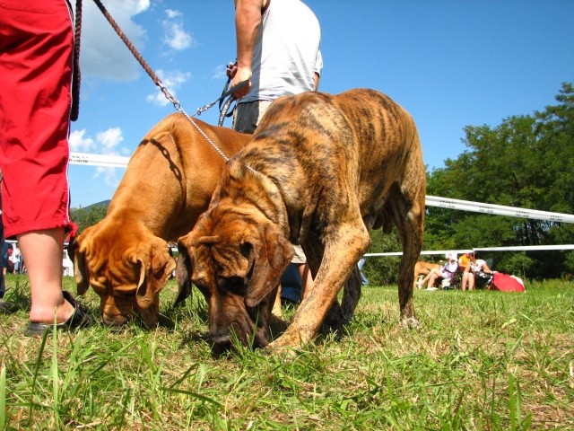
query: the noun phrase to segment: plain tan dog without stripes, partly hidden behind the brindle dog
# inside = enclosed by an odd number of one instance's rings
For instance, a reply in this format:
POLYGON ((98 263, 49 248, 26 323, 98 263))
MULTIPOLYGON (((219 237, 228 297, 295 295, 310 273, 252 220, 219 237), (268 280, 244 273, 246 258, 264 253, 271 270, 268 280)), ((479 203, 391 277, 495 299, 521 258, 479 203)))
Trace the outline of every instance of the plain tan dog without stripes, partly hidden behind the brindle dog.
MULTIPOLYGON (((251 137, 194 121, 227 156, 251 137)), ((94 288, 105 324, 122 325, 133 315, 148 327, 157 324, 159 294, 176 266, 167 241, 196 224, 224 164, 182 114, 166 117, 144 136, 108 214, 77 238, 71 253, 78 294, 94 288)))

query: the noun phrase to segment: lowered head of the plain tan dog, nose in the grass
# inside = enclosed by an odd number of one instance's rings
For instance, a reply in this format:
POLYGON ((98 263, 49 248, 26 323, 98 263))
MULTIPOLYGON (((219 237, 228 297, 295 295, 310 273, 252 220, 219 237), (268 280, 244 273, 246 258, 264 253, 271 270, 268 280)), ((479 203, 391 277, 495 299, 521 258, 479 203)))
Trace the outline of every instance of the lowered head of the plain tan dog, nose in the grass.
POLYGON ((92 286, 110 326, 140 317, 148 328, 160 316, 160 292, 175 269, 168 243, 151 233, 110 228, 106 219, 87 228, 70 251, 78 294, 92 286))

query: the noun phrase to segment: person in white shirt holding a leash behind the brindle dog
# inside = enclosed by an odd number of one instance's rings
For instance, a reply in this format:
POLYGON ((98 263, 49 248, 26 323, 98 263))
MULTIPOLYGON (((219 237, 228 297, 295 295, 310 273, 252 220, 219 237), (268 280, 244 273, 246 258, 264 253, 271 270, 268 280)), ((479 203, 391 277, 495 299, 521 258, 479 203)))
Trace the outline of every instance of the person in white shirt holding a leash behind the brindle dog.
MULTIPOLYGON (((232 128, 254 133, 275 99, 316 91, 323 67, 321 29, 300 0, 235 0, 237 63, 230 63, 230 85, 248 82, 238 100, 232 128)), ((301 277, 301 297, 313 278, 300 246, 291 260, 301 277)))

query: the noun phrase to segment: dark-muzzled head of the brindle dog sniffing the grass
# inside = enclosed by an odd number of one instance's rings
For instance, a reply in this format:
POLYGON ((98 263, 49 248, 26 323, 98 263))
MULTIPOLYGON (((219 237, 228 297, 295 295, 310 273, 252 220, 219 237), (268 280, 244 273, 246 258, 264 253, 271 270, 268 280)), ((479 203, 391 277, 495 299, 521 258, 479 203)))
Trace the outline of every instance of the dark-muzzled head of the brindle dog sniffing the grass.
POLYGON ((265 347, 274 295, 294 253, 279 226, 255 208, 220 205, 200 217, 178 249, 177 302, 189 295, 190 281, 202 292, 213 351, 232 347, 234 336, 265 347))

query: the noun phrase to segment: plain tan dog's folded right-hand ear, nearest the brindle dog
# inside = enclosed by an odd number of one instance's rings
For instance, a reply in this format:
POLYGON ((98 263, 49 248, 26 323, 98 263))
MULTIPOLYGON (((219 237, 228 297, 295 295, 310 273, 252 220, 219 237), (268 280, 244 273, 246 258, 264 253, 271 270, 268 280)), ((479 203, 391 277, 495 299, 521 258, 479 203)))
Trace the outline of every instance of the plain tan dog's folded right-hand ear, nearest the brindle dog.
POLYGON ((135 302, 142 310, 152 306, 155 296, 165 287, 176 268, 168 247, 167 242, 152 242, 149 254, 138 251, 130 257, 136 271, 139 271, 135 302))

